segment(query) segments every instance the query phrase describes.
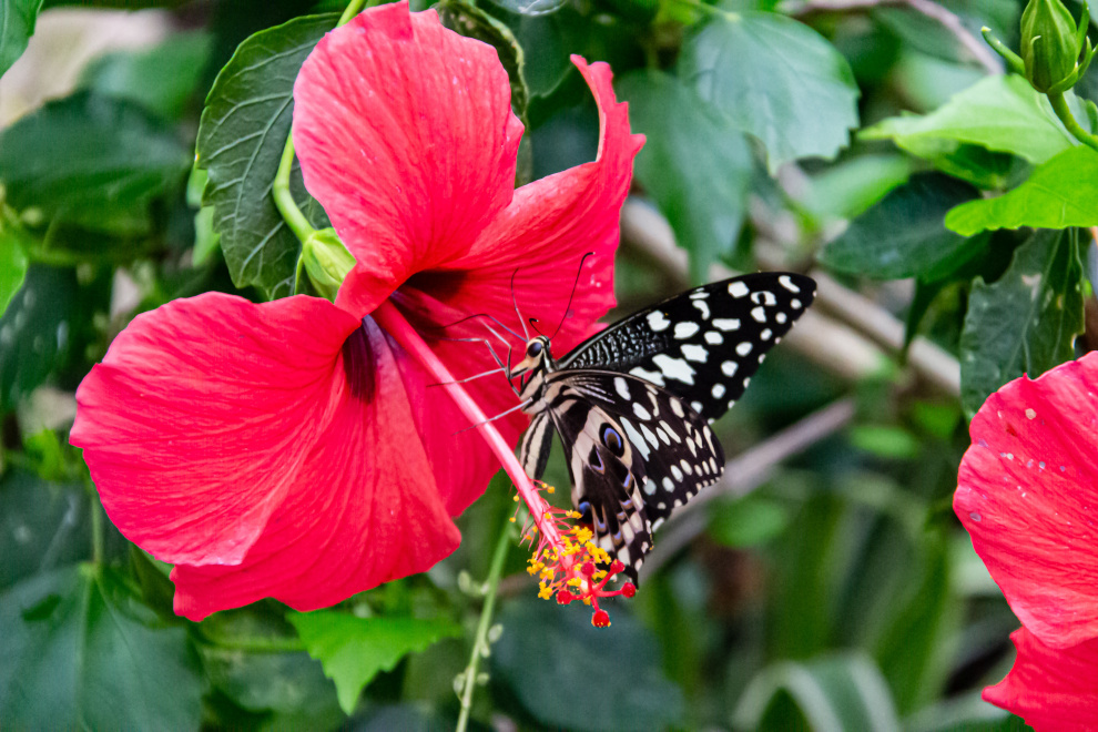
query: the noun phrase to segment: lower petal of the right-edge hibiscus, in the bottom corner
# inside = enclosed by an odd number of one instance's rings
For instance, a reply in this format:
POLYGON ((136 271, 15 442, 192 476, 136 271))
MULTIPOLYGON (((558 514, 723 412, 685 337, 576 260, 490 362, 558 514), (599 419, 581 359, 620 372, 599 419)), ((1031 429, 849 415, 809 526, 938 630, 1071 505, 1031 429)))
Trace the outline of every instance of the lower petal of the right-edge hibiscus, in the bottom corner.
POLYGON ((1053 649, 1019 628, 1010 639, 1018 658, 984 699, 1021 716, 1035 730, 1098 728, 1098 640, 1053 649))

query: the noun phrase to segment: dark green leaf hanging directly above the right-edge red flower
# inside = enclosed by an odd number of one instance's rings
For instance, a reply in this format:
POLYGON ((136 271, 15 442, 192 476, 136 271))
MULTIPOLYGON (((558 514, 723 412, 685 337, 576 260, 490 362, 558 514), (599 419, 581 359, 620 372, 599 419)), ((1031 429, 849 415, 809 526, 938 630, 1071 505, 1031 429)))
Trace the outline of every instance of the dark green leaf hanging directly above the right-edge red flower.
POLYGON ((995 284, 977 278, 960 334, 960 398, 973 415, 1013 378, 1040 376, 1075 355, 1082 333, 1076 231, 1036 232, 995 284))

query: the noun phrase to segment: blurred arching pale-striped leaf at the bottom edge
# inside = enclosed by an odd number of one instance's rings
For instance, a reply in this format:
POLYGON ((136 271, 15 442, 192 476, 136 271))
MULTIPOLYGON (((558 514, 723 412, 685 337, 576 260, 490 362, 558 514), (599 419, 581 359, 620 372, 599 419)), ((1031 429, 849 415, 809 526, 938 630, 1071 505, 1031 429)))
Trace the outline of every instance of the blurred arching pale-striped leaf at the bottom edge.
POLYGON ((764 669, 740 698, 733 726, 745 730, 901 729, 881 671, 860 654, 764 669))

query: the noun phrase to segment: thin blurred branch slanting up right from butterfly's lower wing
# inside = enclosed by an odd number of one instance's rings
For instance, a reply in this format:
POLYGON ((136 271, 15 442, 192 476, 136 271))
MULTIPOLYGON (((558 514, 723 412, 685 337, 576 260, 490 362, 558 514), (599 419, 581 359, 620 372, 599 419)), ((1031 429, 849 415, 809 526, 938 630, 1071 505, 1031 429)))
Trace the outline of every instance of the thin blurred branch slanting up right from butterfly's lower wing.
POLYGON ((853 419, 854 399, 840 399, 729 460, 721 481, 679 509, 660 531, 659 541, 641 568, 641 580, 658 571, 705 530, 709 518, 703 509, 706 505, 718 498, 746 496, 765 484, 782 461, 834 435, 853 419))

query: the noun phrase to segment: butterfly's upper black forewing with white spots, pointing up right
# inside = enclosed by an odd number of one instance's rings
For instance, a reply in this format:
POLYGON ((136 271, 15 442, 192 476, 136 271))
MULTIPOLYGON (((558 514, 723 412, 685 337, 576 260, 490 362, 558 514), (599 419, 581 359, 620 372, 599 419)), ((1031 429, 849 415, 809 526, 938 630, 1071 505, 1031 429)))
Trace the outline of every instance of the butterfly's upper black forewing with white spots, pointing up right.
POLYGON ((639 376, 712 421, 743 395, 766 352, 812 303, 815 288, 812 278, 791 273, 695 287, 588 338, 559 368, 639 376))

